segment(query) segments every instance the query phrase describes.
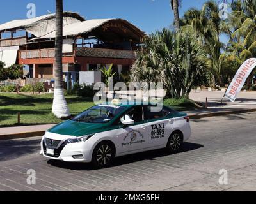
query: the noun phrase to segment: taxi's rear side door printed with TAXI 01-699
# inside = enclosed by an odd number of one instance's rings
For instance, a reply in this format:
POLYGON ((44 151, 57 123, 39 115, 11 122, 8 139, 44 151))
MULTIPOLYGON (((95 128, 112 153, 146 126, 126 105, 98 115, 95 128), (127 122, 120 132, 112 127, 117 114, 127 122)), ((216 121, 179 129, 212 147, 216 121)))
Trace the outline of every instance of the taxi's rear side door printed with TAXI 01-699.
POLYGON ((163 107, 160 112, 154 112, 152 106, 145 106, 144 111, 149 126, 147 129, 148 148, 163 147, 167 144, 173 130, 172 110, 163 107))

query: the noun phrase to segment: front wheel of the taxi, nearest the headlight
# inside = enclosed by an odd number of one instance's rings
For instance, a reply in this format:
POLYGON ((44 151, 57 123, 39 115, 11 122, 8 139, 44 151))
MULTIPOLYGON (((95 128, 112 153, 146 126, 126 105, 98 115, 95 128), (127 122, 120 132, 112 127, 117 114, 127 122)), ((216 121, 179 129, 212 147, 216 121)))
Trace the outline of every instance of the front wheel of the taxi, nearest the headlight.
POLYGON ((115 147, 111 142, 102 142, 93 151, 92 163, 97 168, 106 168, 115 158, 115 147))

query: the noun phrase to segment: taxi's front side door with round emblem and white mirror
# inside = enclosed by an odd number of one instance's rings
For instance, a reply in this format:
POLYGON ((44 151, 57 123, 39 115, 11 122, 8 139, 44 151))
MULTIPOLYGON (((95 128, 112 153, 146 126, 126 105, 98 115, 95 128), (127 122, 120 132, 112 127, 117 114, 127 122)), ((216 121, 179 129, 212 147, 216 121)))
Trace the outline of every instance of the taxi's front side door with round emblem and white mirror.
MULTIPOLYGON (((143 106, 134 106, 127 110, 124 115, 129 115, 131 119, 134 120, 134 124, 124 127, 118 133, 118 152, 124 154, 136 150, 147 149, 148 137, 145 134, 148 132, 147 129, 149 127, 147 126, 147 121, 144 119, 143 106)), ((120 125, 122 126, 121 122, 120 125)))

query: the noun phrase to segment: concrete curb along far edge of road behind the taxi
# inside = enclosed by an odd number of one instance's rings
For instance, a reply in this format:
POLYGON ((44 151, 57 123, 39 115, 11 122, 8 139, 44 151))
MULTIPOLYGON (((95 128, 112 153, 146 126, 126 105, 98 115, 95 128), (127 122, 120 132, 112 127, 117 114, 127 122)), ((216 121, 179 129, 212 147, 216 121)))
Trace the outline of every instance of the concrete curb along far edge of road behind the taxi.
MULTIPOLYGON (((205 118, 205 117, 232 115, 232 114, 236 114, 236 113, 239 114, 239 113, 249 113, 249 112, 256 112, 256 108, 244 109, 244 110, 232 110, 232 111, 228 111, 228 112, 203 113, 203 114, 199 114, 199 115, 191 114, 191 115, 189 115, 189 118, 190 119, 202 119, 202 118, 205 118)), ((30 137, 42 136, 42 135, 44 135, 45 131, 17 133, 17 134, 10 134, 10 135, 0 135, 0 141, 1 140, 13 140, 13 139, 20 139, 20 138, 30 138, 30 137)))

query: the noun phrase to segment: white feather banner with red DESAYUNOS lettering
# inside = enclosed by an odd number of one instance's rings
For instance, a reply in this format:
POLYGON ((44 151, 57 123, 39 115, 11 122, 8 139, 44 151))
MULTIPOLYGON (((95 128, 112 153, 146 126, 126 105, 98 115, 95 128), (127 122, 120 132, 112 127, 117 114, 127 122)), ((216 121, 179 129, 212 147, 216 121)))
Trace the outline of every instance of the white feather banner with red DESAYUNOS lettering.
POLYGON ((235 77, 233 78, 231 84, 229 85, 227 92, 225 93, 225 98, 230 99, 231 102, 236 100, 237 94, 243 88, 246 79, 252 73, 256 66, 256 58, 247 59, 242 66, 238 69, 235 77))

